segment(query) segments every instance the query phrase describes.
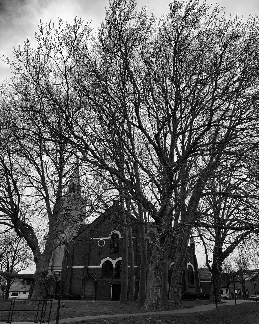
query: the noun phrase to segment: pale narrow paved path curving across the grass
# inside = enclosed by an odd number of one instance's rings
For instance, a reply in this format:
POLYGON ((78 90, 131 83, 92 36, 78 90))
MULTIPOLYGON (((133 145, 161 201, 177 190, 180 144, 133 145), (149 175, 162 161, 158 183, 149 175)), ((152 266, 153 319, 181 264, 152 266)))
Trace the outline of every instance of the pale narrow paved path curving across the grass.
MULTIPOLYGON (((249 300, 237 300, 237 304, 246 303, 249 300)), ((223 303, 218 304, 220 306, 235 305, 234 300, 224 300, 223 303)), ((102 319, 102 318, 112 318, 112 317, 131 317, 131 316, 151 316, 151 315, 167 315, 167 314, 186 314, 186 313, 195 313, 203 312, 208 310, 215 309, 214 304, 200 305, 193 308, 185 309, 176 309, 176 310, 163 310, 159 312, 145 312, 145 313, 135 313, 135 314, 110 314, 110 315, 95 315, 95 316, 81 316, 81 317, 72 317, 72 318, 61 318, 59 323, 68 323, 72 321, 82 321, 82 320, 91 320, 91 319, 102 319)), ((14 322, 15 324, 28 324, 26 322, 14 322)), ((1 323, 9 324, 9 323, 1 323)), ((39 323, 29 323, 29 324, 39 324, 39 323)), ((42 322, 42 324, 45 324, 42 322)), ((55 324, 55 321, 51 321, 50 324, 55 324)))

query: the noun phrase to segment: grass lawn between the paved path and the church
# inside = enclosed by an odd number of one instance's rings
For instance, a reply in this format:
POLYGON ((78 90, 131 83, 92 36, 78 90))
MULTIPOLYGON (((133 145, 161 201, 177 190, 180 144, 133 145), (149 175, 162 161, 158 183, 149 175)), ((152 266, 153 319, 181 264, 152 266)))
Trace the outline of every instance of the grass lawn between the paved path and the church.
MULTIPOLYGON (((120 305, 118 301, 96 301, 96 302, 69 302, 64 301, 65 307, 60 308, 60 316, 59 318, 71 318, 71 317, 79 317, 79 316, 90 316, 90 315, 107 315, 107 314, 130 314, 130 313, 143 313, 141 307, 136 307, 136 303, 128 303, 127 305, 120 305)), ((209 304, 208 301, 183 301, 182 305, 185 308, 192 308, 198 305, 206 305, 209 304)), ((61 303, 62 305, 62 303, 61 303)), ((58 303, 52 303, 51 309, 51 320, 56 318, 58 303)), ((5 302, 0 302, 0 318, 8 316, 8 313, 3 313, 1 310, 9 310, 10 300, 5 302)), ((22 301, 15 302, 15 309, 23 310, 22 313, 14 313, 14 318, 26 318, 28 314, 31 317, 36 316, 37 305, 28 305, 26 302, 23 304, 22 301), (28 312, 33 311, 34 312, 28 312)), ((41 307, 41 306, 40 306, 41 307)), ((39 309, 41 309, 39 307, 39 309)), ((47 310, 49 309, 49 304, 47 310)), ((169 309, 178 309, 176 307, 166 307, 165 310, 169 309)), ((152 310, 153 311, 153 310, 152 310)), ((45 319, 48 317, 46 314, 45 319)))

